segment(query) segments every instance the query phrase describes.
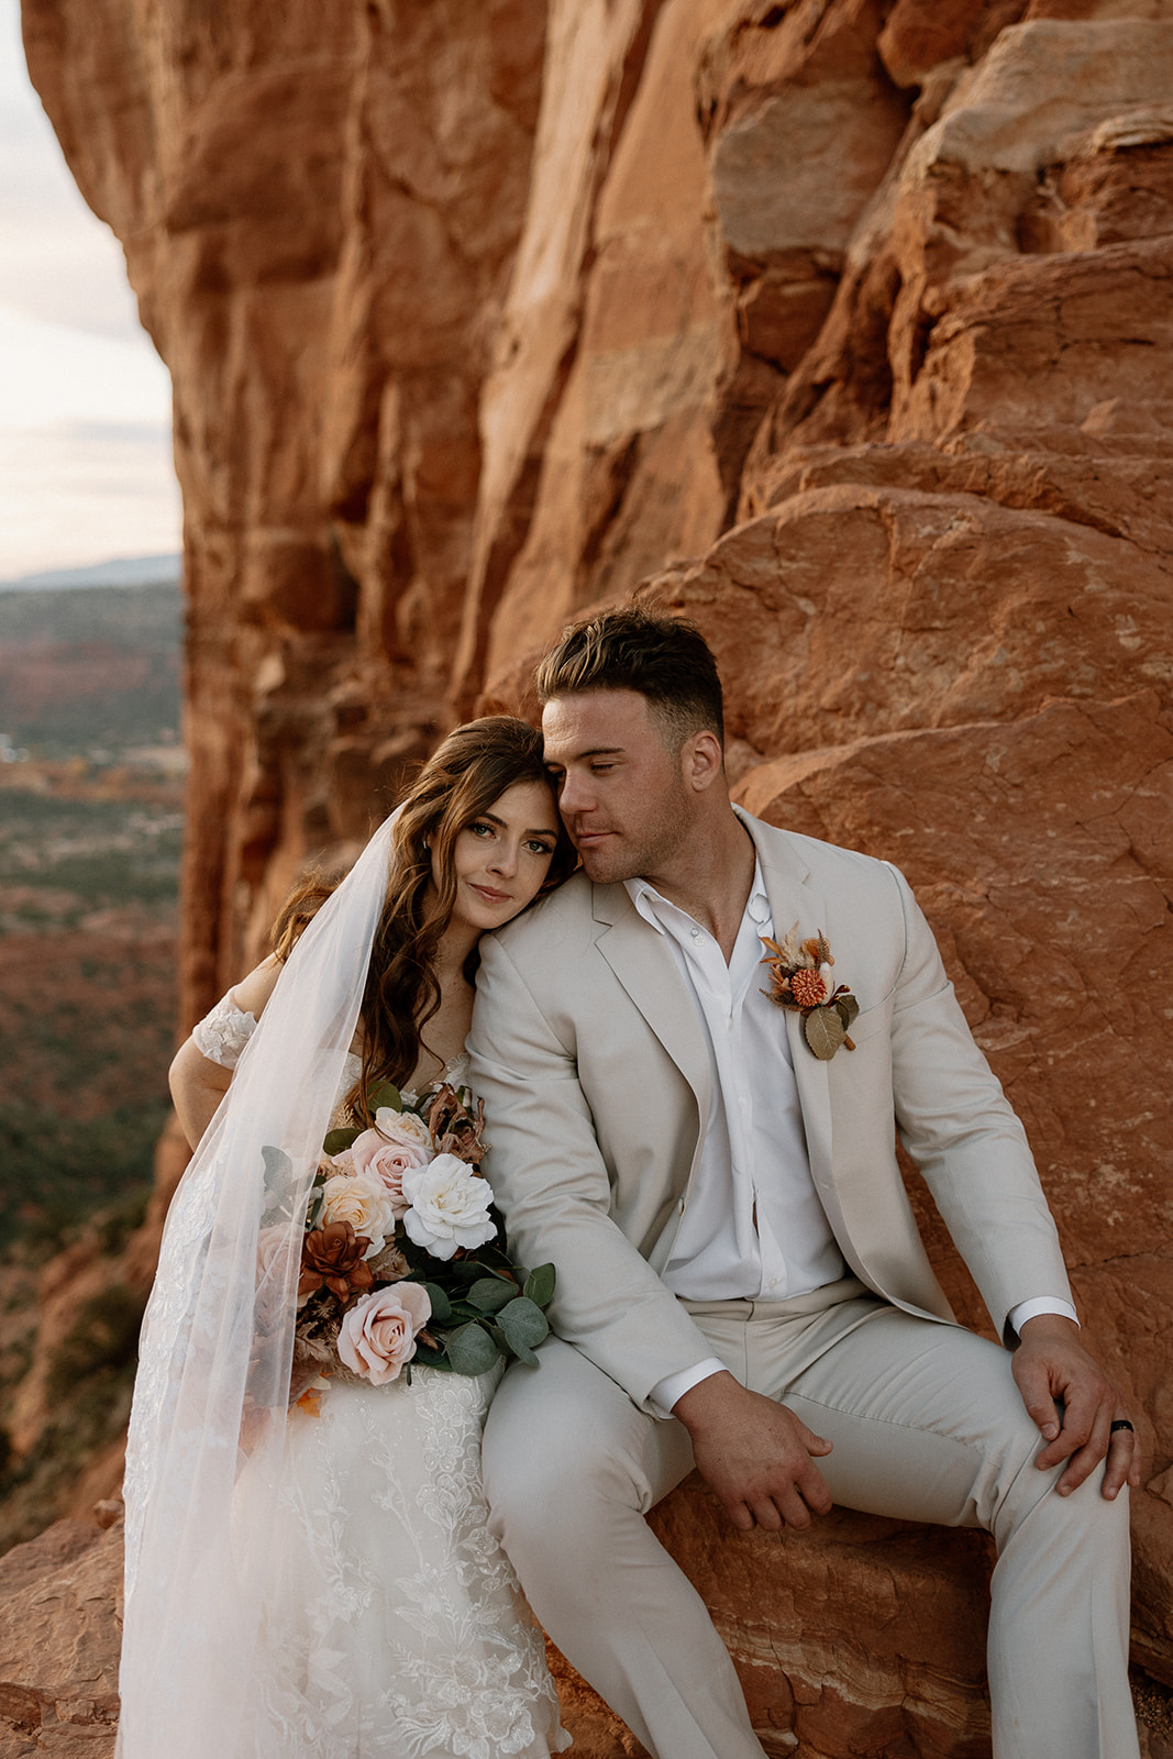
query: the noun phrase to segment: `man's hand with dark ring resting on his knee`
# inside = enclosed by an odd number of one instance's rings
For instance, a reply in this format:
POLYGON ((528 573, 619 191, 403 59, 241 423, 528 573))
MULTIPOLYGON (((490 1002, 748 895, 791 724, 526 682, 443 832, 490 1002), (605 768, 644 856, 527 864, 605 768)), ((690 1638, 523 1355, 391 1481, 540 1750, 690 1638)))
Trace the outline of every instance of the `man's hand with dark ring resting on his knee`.
POLYGON ((1122 1485, 1140 1486, 1140 1449, 1131 1428, 1113 1434, 1113 1421, 1127 1420, 1127 1407, 1078 1337, 1075 1321, 1060 1314, 1027 1319, 1013 1376, 1046 1442, 1034 1463, 1048 1471, 1067 1462, 1055 1485, 1059 1495, 1069 1495, 1106 1458, 1101 1492, 1111 1500, 1122 1485))

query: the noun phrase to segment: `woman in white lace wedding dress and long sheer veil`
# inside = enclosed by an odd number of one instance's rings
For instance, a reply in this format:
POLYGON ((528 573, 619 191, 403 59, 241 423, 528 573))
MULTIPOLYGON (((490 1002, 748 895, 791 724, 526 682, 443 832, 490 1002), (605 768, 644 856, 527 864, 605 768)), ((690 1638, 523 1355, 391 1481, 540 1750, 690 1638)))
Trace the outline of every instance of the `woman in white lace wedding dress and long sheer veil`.
POLYGON ((499 1370, 331 1376, 290 1407, 290 1361, 327 1129, 371 1128, 382 1082, 459 1084, 480 934, 572 864, 540 735, 503 716, 461 726, 179 1050, 172 1092, 199 1149, 130 1421, 120 1759, 570 1745, 487 1529, 480 1427, 499 1370))

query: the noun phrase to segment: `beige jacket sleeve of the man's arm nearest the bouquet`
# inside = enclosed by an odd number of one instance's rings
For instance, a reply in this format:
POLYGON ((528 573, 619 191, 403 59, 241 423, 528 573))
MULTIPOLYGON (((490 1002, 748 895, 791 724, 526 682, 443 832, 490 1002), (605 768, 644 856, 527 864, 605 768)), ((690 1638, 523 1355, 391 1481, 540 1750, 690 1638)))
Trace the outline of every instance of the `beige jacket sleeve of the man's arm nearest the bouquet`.
MULTIPOLYGON (((524 1265, 554 1265, 557 1335, 659 1416, 652 1388, 712 1356, 712 1346, 612 1217, 573 1047, 545 1018, 510 950, 494 936, 480 946, 470 1084, 485 1101, 484 1164, 510 1249, 524 1265)), ((565 948, 559 969, 573 985, 565 948)), ((607 1033, 607 1022, 594 1029, 607 1033)))

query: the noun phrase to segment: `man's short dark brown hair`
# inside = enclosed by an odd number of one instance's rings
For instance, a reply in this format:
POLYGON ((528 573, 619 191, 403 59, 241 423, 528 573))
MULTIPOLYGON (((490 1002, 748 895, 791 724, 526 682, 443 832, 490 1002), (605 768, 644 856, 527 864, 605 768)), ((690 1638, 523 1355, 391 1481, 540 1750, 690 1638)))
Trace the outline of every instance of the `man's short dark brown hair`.
POLYGON ((572 623, 535 672, 538 702, 591 690, 635 690, 677 749, 689 734, 725 746, 718 661, 695 623, 619 605, 572 623))

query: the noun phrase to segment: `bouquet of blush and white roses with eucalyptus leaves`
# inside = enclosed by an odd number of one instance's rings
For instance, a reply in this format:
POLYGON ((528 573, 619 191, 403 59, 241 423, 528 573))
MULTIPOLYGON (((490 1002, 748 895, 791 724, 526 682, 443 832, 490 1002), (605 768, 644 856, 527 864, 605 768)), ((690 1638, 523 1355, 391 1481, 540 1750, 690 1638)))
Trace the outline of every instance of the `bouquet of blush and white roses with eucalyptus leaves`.
POLYGON ((318 1377, 410 1381, 410 1363, 484 1374, 498 1358, 536 1363, 554 1266, 506 1258, 478 1166, 484 1105, 443 1084, 419 1099, 389 1082, 375 1126, 332 1129, 301 1247, 290 1397, 318 1377))

